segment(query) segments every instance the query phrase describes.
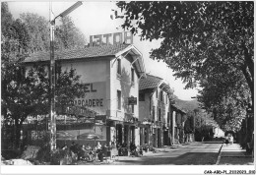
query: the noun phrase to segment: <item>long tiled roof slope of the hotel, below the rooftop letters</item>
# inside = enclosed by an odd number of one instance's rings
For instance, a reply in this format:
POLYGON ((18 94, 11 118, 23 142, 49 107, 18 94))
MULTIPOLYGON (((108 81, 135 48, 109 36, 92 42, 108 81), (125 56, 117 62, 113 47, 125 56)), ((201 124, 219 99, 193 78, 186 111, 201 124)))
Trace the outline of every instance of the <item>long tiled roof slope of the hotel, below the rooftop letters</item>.
MULTIPOLYGON (((116 44, 116 45, 102 45, 94 47, 86 47, 80 49, 66 49, 56 51, 54 57, 56 60, 70 60, 78 58, 94 58, 103 56, 115 56, 120 51, 129 47, 129 44, 116 44)), ((25 62, 37 62, 37 61, 49 61, 50 53, 48 52, 36 52, 32 53, 30 57, 25 59, 25 62)))

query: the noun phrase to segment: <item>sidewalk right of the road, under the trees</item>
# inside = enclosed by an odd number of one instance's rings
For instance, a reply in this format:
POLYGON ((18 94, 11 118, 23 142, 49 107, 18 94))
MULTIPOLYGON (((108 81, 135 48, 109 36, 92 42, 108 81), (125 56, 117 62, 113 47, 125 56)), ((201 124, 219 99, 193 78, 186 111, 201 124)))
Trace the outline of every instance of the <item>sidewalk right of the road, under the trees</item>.
POLYGON ((222 146, 217 164, 219 165, 253 165, 252 155, 248 155, 245 149, 238 144, 222 146))

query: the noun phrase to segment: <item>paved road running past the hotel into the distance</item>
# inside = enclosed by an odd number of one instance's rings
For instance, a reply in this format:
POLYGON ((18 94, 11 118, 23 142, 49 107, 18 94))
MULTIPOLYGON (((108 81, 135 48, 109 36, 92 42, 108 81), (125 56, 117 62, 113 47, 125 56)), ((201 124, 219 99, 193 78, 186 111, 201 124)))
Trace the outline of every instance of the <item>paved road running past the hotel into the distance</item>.
POLYGON ((147 152, 141 157, 120 156, 111 165, 212 165, 222 144, 192 143, 178 148, 161 148, 158 153, 147 152))

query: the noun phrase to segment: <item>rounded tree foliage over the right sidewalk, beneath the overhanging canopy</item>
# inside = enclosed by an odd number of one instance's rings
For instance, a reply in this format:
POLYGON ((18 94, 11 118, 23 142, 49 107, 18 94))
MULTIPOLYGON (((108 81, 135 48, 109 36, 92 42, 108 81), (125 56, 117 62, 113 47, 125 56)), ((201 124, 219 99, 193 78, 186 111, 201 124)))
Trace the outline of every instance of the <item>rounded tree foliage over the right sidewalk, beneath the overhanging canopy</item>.
POLYGON ((239 130, 241 121, 246 116, 250 91, 239 76, 241 75, 237 74, 229 80, 226 79, 228 76, 222 80, 209 80, 200 90, 199 101, 212 112, 215 120, 225 131, 239 130))

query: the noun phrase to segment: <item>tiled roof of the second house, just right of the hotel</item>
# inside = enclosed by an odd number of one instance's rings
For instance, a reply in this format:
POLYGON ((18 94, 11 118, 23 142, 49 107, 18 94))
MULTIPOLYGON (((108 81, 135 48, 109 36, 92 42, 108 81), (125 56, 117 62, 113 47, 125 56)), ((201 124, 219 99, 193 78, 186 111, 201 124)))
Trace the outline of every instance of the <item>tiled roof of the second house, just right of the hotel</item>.
POLYGON ((140 80, 139 89, 156 88, 160 86, 161 78, 147 74, 146 79, 140 80))

